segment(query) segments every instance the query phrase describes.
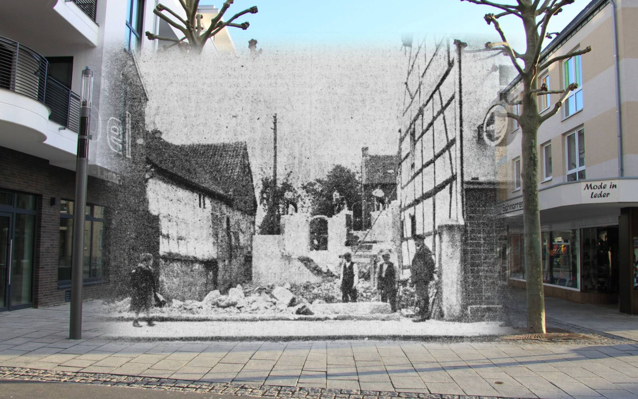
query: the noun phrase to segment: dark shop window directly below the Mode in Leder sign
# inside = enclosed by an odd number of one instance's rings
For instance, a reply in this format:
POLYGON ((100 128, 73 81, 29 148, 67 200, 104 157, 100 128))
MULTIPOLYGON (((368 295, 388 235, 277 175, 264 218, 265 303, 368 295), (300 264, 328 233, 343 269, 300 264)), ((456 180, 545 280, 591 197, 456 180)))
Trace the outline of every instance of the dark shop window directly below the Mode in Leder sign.
POLYGON ((618 292, 618 227, 581 230, 582 291, 618 292))

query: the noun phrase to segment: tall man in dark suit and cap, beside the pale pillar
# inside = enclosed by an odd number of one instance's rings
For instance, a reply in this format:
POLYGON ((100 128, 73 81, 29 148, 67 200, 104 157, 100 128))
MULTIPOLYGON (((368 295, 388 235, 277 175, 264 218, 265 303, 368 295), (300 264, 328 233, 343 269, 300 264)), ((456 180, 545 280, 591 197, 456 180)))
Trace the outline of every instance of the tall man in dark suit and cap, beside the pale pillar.
POLYGON ((414 243, 417 246, 417 252, 412 258, 410 266, 410 274, 412 275, 412 283, 414 284, 415 294, 419 300, 419 313, 412 319, 414 322, 421 322, 430 317, 430 297, 429 283, 434 278, 434 256, 427 245, 424 243, 423 236, 413 236, 414 243))

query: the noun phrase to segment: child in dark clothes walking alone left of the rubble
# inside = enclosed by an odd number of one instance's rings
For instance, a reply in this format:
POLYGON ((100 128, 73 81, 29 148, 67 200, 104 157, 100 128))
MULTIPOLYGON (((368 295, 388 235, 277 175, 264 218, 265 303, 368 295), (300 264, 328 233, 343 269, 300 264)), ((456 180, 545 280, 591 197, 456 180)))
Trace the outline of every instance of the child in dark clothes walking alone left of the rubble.
POLYGON ((133 327, 142 327, 138 321, 140 313, 146 314, 149 327, 155 325, 151 319, 151 309, 155 304, 157 284, 152 266, 153 255, 143 253, 140 257, 140 263, 130 273, 131 289, 133 290, 131 293, 131 312, 135 313, 133 327))

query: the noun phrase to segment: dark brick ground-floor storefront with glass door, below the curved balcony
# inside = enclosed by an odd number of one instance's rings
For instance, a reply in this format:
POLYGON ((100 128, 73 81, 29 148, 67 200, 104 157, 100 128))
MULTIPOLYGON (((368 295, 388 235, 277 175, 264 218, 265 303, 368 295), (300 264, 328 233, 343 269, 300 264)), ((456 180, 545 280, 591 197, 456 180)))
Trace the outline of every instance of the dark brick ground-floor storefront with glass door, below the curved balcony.
MULTIPOLYGON (((75 172, 0 147, 0 312, 70 300, 75 172)), ((89 177, 84 296, 108 282, 109 190, 89 177)))

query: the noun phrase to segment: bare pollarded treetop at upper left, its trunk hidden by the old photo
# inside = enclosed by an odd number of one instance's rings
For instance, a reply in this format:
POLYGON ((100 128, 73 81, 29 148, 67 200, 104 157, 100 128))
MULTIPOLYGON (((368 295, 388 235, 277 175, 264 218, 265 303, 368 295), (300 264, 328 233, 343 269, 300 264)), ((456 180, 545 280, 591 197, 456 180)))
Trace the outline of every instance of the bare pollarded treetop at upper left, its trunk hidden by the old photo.
POLYGON ((197 49, 202 52, 206 41, 218 34, 221 29, 227 26, 239 27, 244 30, 248 29, 250 25, 248 22, 235 24, 233 21, 242 15, 257 13, 257 7, 252 6, 251 8, 246 8, 246 10, 236 13, 227 21, 223 21, 222 17, 224 13, 230 8, 230 4, 233 4, 233 0, 226 0, 221 10, 219 10, 219 13, 211 20, 211 25, 204 30, 204 25, 202 25, 204 15, 197 13, 200 0, 179 0, 179 3, 186 13, 186 19, 161 3, 155 7, 153 13, 165 20, 170 26, 179 29, 179 31, 184 34, 184 37, 181 39, 168 38, 146 31, 146 37, 149 38, 149 40, 166 40, 173 42, 171 45, 165 46, 165 48, 180 45, 180 47, 184 49, 197 49), (169 17, 167 13, 172 17, 169 17))

